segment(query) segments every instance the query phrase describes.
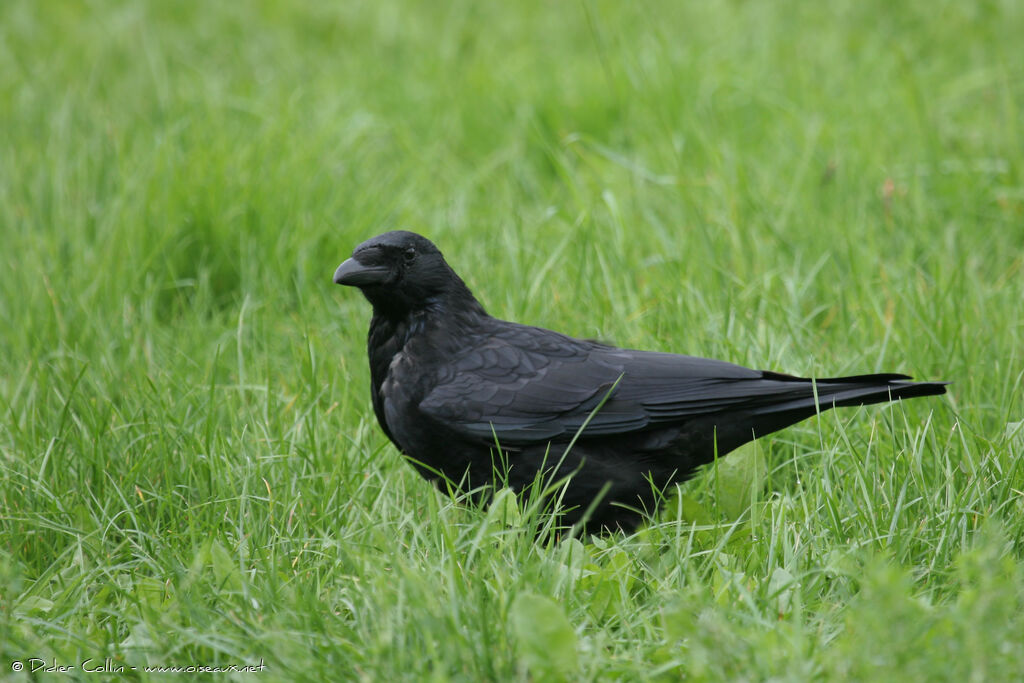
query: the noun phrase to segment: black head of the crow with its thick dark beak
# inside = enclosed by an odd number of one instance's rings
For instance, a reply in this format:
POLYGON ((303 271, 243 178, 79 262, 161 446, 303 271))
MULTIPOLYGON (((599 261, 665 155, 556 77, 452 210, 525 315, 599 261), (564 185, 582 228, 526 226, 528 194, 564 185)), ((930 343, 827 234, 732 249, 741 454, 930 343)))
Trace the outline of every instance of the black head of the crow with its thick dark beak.
POLYGON ((359 288, 374 310, 385 314, 403 315, 441 301, 447 294, 469 293, 437 247, 407 230, 364 242, 335 270, 334 282, 359 288))

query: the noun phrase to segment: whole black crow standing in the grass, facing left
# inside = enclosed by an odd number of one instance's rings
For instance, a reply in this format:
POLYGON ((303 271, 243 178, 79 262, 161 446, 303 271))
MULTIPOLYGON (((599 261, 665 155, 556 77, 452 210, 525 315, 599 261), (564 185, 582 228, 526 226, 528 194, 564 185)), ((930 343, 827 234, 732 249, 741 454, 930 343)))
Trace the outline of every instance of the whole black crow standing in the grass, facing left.
POLYGON ((632 529, 655 489, 819 411, 945 392, 905 375, 814 381, 501 321, 415 232, 362 243, 334 282, 373 304, 374 412, 421 474, 478 494, 496 480, 521 493, 546 468, 571 474, 562 520, 585 531, 632 529))

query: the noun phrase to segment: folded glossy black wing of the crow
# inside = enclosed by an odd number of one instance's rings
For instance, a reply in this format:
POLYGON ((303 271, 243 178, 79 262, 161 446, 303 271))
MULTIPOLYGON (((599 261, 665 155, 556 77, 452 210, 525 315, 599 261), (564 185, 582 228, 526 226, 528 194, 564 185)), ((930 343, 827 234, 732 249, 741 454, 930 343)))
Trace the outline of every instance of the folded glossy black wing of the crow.
POLYGON ((622 434, 715 413, 772 410, 813 392, 804 380, 721 360, 507 325, 444 366, 420 403, 425 415, 463 436, 516 447, 571 438, 584 424, 587 436, 622 434))

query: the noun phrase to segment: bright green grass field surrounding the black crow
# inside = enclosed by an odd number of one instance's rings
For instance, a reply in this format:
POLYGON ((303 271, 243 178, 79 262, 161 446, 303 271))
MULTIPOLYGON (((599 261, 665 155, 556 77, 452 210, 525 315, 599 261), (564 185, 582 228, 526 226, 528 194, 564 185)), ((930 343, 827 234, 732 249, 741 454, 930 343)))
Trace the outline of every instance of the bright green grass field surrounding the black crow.
POLYGON ((1022 35, 1009 0, 0 3, 0 677, 1021 680, 1022 35), (953 384, 538 543, 376 424, 331 275, 392 227, 501 317, 953 384))

